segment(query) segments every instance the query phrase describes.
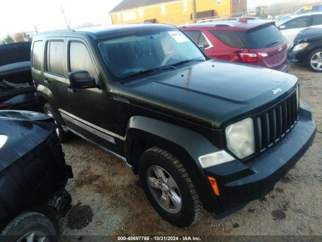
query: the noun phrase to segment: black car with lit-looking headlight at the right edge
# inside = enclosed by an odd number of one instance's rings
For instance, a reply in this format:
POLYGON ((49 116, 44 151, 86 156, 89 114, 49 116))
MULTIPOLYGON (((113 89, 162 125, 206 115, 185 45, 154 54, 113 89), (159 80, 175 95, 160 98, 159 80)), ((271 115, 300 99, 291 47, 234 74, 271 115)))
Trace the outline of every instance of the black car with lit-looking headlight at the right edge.
POLYGON ((322 72, 322 28, 300 31, 289 49, 289 61, 322 72))

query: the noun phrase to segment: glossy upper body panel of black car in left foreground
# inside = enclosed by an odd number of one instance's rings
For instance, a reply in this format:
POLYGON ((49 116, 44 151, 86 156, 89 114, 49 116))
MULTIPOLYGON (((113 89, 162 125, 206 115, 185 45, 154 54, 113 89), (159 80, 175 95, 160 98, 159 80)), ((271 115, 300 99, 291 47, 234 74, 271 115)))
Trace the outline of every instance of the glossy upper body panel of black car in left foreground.
POLYGON ((55 132, 53 119, 31 111, 0 111, 0 171, 55 132))

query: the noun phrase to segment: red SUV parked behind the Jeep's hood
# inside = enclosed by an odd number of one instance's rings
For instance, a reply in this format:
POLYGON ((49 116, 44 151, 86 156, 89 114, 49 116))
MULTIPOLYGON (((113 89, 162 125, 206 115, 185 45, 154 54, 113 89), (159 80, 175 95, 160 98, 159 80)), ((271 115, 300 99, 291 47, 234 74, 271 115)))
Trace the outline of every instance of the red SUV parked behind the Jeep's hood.
POLYGON ((288 71, 287 40, 272 21, 241 18, 180 28, 211 58, 288 71))

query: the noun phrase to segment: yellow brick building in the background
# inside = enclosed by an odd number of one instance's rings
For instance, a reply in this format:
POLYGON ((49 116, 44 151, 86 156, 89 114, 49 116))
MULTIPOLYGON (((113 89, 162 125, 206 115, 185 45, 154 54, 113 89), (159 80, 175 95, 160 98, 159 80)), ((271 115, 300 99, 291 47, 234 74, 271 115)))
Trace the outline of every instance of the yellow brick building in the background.
MULTIPOLYGON (((229 17, 247 11, 247 0, 195 0, 196 18, 229 17)), ((192 23, 193 0, 123 0, 110 11, 113 24, 192 23)))

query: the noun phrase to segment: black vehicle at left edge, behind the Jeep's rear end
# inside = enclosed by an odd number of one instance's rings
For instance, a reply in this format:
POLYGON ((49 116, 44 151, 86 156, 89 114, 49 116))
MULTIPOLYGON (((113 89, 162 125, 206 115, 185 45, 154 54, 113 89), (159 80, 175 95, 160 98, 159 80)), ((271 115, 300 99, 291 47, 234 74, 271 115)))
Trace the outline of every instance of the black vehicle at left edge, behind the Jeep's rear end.
POLYGON ((38 110, 30 46, 31 42, 0 45, 0 109, 38 110))

